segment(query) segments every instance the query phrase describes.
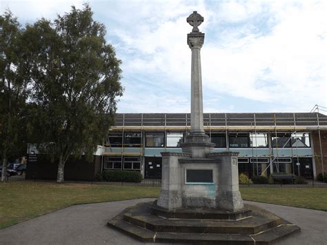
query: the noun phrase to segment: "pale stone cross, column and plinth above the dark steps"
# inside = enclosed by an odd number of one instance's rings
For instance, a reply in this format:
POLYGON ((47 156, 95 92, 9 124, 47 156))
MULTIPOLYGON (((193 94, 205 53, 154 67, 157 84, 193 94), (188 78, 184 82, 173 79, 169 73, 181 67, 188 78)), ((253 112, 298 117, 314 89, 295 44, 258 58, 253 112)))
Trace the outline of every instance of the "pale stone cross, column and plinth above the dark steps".
POLYGON ((190 133, 181 144, 183 153, 161 153, 162 184, 157 205, 167 210, 175 208, 241 210, 243 200, 239 193, 237 153, 212 153, 215 144, 212 144, 208 135, 204 133, 201 76, 204 33, 199 32, 197 28, 204 18, 193 12, 187 21, 193 26, 187 39, 192 52, 190 133), (199 175, 203 178, 197 181, 189 175, 199 175))

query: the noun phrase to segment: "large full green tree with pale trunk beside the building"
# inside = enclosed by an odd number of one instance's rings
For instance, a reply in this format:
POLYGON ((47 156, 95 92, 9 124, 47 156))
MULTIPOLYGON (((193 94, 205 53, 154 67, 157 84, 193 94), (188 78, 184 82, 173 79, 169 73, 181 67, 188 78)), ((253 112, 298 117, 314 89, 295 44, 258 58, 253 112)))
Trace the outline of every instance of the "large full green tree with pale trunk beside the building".
POLYGON ((38 149, 58 162, 63 182, 70 155, 90 159, 106 137, 122 95, 121 61, 105 39, 106 28, 92 19, 88 5, 72 6, 54 22, 26 26, 32 79, 31 101, 38 106, 34 126, 38 149))

